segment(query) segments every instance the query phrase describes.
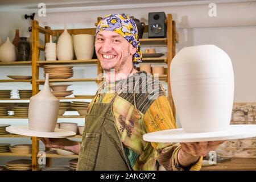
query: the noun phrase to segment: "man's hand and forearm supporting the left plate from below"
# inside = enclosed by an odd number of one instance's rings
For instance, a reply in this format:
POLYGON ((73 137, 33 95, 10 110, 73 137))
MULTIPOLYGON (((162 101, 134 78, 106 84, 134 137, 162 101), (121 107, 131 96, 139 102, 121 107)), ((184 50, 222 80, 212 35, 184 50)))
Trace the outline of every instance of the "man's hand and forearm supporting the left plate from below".
POLYGON ((75 142, 67 138, 39 138, 47 148, 60 148, 63 150, 79 154, 80 142, 75 142))

